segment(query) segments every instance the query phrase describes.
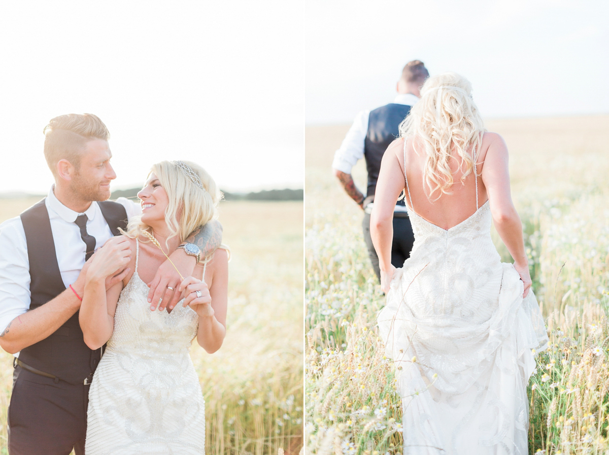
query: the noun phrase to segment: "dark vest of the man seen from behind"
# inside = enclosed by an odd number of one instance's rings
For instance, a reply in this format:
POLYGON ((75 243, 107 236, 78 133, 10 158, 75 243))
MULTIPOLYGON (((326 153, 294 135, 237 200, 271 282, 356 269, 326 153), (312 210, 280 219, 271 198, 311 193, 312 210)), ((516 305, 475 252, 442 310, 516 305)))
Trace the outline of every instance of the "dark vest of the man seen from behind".
MULTIPOLYGON (((382 156, 398 134, 398 127, 410 112, 410 106, 390 103, 370 111, 368 132, 364 141, 364 157, 368 170, 367 196, 376 190, 376 181, 381 170, 382 156)), ((403 203, 402 203, 403 204, 403 203)))

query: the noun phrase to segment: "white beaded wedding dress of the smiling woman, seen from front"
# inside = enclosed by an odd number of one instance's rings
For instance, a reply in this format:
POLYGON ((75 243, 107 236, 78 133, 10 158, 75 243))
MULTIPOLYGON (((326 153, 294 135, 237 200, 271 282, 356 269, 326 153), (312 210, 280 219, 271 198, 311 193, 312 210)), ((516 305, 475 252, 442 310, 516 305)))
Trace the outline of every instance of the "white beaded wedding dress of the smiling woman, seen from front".
POLYGON ((89 391, 87 455, 205 453, 205 401, 188 353, 198 316, 181 302, 150 311, 135 271, 89 391))

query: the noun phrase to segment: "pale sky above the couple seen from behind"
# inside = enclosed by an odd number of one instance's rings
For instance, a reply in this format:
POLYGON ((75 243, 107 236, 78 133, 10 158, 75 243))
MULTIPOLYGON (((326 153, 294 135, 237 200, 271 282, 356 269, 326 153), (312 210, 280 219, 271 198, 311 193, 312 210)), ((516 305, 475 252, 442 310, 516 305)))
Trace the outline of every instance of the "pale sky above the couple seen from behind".
POLYGON ((306 123, 389 103, 404 64, 454 71, 484 117, 609 113, 604 0, 306 0, 306 123))

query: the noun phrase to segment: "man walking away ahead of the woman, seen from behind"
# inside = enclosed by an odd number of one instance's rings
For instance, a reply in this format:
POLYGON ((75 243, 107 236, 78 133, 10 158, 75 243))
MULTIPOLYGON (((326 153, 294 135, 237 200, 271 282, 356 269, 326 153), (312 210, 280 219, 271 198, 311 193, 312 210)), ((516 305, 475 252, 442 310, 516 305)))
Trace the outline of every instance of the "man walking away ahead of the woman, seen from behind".
MULTIPOLYGON (((381 159, 389 144, 398 137, 398 127, 410 112, 410 107, 418 101, 419 89, 428 77, 429 72, 422 61, 409 61, 404 66, 402 76, 398 80, 398 96, 393 103, 373 111, 362 111, 357 114, 339 150, 334 154, 332 163, 334 175, 337 176, 351 199, 364 210, 364 220, 362 220, 364 240, 379 281, 381 280, 381 269, 370 237, 370 214, 375 200, 376 180, 381 169, 381 159), (357 189, 351 177, 351 168, 361 158, 365 158, 368 171, 368 188, 365 196, 357 189)), ((395 267, 401 267, 410 256, 413 243, 414 234, 412 234, 404 200, 401 200, 398 201, 393 211, 391 263, 395 267)))

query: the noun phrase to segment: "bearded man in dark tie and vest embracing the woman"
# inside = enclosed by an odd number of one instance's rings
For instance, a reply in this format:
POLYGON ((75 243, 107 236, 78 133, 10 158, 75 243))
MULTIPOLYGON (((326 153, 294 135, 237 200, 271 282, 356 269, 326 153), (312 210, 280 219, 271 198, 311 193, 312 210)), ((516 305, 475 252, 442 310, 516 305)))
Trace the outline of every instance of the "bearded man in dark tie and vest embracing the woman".
MULTIPOLYGON (((85 345, 79 325, 90 263, 85 259, 141 209, 125 198, 105 201, 116 174, 110 134, 98 117, 55 117, 44 132, 44 156, 55 185, 38 204, 0 225, 0 346, 19 352, 13 362, 9 454, 68 455, 73 448, 82 455, 89 384, 102 353, 85 345)), ((197 243, 215 238, 202 257, 219 245, 221 227, 216 223, 205 231, 197 243)), ((117 238, 105 246, 116 250, 118 267, 107 288, 128 272, 119 266, 118 258, 125 256, 120 243, 117 238)), ((172 260, 182 274, 192 274, 195 259, 176 251, 172 260)), ((171 265, 161 268, 150 290, 153 302, 163 296, 159 310, 175 305, 179 296, 172 299, 173 290, 166 288, 180 282, 171 265)))

